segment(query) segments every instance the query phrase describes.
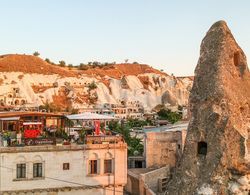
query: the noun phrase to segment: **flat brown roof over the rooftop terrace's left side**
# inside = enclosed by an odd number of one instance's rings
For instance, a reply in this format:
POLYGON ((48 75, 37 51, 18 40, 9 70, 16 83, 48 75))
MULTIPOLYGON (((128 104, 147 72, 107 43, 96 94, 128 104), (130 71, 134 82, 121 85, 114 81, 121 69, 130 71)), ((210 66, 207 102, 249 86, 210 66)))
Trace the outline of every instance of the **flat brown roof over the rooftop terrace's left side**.
POLYGON ((10 117, 24 117, 24 116, 47 116, 47 117, 63 117, 59 113, 47 113, 47 112, 0 112, 0 118, 10 118, 10 117))

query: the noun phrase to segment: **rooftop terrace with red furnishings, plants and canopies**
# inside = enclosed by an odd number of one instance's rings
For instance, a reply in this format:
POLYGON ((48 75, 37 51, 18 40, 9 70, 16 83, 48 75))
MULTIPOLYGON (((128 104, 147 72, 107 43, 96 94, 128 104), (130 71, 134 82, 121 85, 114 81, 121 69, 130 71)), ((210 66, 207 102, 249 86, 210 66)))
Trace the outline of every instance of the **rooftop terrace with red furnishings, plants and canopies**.
POLYGON ((108 130, 114 119, 94 113, 4 112, 0 113, 0 147, 124 142, 108 130))

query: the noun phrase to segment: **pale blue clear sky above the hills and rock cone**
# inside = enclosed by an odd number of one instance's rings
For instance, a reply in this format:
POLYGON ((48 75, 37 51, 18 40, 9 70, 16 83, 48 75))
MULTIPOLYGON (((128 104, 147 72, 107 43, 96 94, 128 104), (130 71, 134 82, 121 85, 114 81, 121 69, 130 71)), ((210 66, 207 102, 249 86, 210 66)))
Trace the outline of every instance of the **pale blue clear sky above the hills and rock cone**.
POLYGON ((210 26, 225 20, 250 56, 250 1, 0 0, 0 55, 78 65, 139 62, 189 76, 210 26))

